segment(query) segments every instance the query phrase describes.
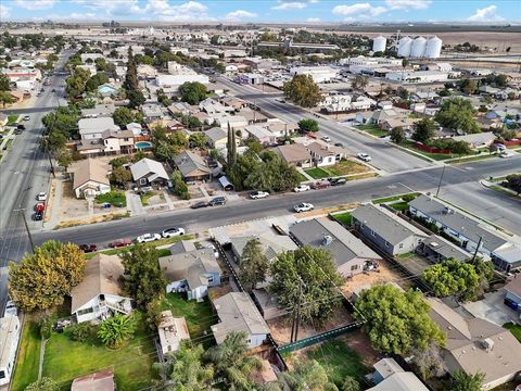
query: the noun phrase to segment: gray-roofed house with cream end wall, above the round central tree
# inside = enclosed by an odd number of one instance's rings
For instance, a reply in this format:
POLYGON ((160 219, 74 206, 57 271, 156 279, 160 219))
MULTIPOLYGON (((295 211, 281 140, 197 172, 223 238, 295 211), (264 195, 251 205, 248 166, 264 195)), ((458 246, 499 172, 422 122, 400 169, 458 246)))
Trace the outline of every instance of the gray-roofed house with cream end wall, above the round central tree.
POLYGON ((327 249, 344 278, 363 273, 369 265, 378 266, 381 261, 360 239, 328 218, 297 223, 290 228, 290 234, 300 245, 327 249))

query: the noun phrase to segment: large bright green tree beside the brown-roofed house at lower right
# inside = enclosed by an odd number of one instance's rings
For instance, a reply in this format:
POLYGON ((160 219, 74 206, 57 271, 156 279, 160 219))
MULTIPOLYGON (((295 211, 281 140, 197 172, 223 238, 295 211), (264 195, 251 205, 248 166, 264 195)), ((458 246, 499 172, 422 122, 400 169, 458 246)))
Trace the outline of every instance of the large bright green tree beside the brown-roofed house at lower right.
POLYGON ((379 351, 408 354, 415 348, 428 349, 431 342, 445 343, 445 335, 429 316, 430 306, 420 292, 376 286, 360 293, 356 308, 355 318, 366 319, 364 330, 379 351))

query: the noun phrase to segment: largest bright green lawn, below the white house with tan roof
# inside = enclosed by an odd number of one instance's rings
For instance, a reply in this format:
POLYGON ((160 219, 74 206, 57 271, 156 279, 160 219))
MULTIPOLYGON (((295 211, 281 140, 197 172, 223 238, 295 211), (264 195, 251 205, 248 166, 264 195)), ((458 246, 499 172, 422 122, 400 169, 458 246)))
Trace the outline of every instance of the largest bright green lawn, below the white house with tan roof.
POLYGON ((118 390, 140 390, 149 387, 152 364, 157 361, 152 331, 143 315, 135 312, 137 331, 128 345, 110 350, 93 336, 87 342, 72 341, 66 332, 53 333, 47 342, 43 376, 68 387, 78 376, 112 368, 118 390))

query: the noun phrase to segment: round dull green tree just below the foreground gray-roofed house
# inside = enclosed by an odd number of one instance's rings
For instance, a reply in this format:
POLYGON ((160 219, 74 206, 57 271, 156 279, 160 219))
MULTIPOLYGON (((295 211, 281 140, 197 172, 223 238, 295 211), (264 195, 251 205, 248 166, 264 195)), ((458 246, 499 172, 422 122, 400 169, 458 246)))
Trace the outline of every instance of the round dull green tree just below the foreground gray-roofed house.
POLYGON ((270 292, 284 307, 296 308, 301 303, 304 323, 326 320, 340 304, 336 287, 343 278, 323 248, 305 245, 279 254, 270 265, 270 292))

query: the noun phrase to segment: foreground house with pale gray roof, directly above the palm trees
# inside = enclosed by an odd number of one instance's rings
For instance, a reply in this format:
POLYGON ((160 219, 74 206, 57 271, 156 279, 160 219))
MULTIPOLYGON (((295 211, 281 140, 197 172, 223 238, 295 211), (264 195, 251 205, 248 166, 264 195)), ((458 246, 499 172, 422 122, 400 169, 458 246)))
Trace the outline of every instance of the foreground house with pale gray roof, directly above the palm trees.
POLYGON ((247 348, 259 346, 266 341, 269 328, 246 292, 230 292, 214 300, 219 323, 212 326, 212 332, 220 344, 232 331, 246 333, 247 348))

